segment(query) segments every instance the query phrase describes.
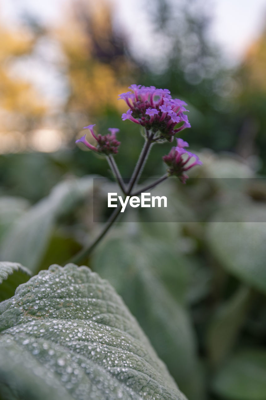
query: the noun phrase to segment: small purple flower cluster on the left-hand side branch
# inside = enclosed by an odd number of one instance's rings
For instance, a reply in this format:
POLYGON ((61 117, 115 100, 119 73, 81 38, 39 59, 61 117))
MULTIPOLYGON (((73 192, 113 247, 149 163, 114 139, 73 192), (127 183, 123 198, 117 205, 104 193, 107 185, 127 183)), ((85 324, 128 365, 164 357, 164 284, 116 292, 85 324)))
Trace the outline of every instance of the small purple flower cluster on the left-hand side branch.
POLYGON ((100 154, 105 154, 107 156, 109 154, 117 154, 120 142, 118 142, 115 135, 117 132, 119 132, 119 129, 109 128, 108 130, 111 132, 111 134, 108 133, 107 135, 96 136, 96 134, 93 130, 94 126, 95 126, 95 124, 84 126, 83 129, 87 128, 90 130, 93 138, 95 138, 95 140, 97 140, 97 142, 98 142, 97 147, 93 146, 86 140, 86 135, 84 135, 84 136, 82 136, 82 138, 76 140, 76 143, 81 142, 81 143, 85 144, 85 146, 87 146, 87 148, 94 150, 100 154))

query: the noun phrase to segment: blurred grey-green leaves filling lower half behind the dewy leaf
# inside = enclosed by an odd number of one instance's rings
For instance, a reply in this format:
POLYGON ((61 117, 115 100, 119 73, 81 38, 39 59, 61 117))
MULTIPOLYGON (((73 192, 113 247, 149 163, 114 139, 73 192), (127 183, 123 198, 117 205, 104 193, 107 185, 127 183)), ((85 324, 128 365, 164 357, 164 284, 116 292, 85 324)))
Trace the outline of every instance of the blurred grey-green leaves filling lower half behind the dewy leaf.
MULTIPOLYGON (((246 400, 264 399, 266 185, 235 156, 200 159, 187 185, 170 179, 163 189, 184 222, 143 222, 156 210, 135 209, 135 222, 125 214, 83 263, 115 286, 189 399, 242 400, 242 381, 246 400)), ((9 193, 18 211, 2 208, 1 259, 33 274, 66 263, 100 229, 92 180, 63 176, 32 206, 9 193)), ((94 190, 101 213, 106 199, 94 190)))

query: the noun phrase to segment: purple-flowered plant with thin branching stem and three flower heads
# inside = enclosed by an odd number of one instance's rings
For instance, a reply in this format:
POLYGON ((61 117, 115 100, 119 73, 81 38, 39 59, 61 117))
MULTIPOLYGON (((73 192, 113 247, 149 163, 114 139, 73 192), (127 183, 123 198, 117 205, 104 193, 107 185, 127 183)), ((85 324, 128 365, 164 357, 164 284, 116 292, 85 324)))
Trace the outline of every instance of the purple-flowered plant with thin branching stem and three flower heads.
MULTIPOLYGON (((185 172, 195 165, 201 165, 202 162, 196 154, 185 149, 185 147, 189 147, 187 142, 181 138, 177 138, 177 146, 173 147, 169 154, 163 156, 163 161, 168 166, 166 174, 153 182, 153 184, 137 192, 133 192, 135 184, 137 184, 141 176, 141 171, 147 161, 151 146, 155 143, 173 142, 177 133, 185 128, 190 128, 191 125, 187 114, 184 114, 188 111, 185 108, 187 104, 183 100, 173 99, 168 89, 157 89, 155 86, 147 87, 136 84, 129 86, 129 89, 131 91, 119 94, 118 97, 119 100, 124 100, 129 106, 127 112, 122 114, 122 120, 130 120, 143 127, 145 136, 145 144, 129 180, 129 184, 126 186, 113 158, 113 154, 117 154, 120 145, 120 142, 116 139, 116 133, 119 132, 119 129, 109 128, 111 134, 97 136, 94 132, 95 125, 85 126, 84 129, 89 129, 91 135, 97 141, 97 146, 90 144, 86 140, 86 135, 76 140, 76 143, 81 142, 90 150, 106 156, 113 175, 125 196, 136 196, 141 192, 146 192, 163 182, 169 176, 177 176, 182 183, 185 183, 189 178, 185 172), (191 159, 194 161, 191 162, 191 159)), ((94 242, 77 254, 73 261, 77 262, 83 259, 93 250, 115 222, 120 211, 121 205, 117 206, 113 214, 111 214, 103 231, 94 242)))

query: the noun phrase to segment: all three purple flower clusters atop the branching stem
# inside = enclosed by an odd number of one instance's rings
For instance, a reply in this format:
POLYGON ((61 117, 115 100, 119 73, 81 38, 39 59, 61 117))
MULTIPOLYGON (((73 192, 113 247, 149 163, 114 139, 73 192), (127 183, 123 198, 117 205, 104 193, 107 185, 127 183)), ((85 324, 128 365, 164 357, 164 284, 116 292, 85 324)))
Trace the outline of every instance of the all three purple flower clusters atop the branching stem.
MULTIPOLYGON (((129 110, 122 115, 122 119, 130 120, 143 126, 147 138, 146 146, 151 146, 154 142, 168 140, 173 141, 177 132, 185 128, 190 128, 187 115, 187 105, 183 100, 173 99, 168 89, 157 89, 155 86, 129 86, 130 92, 122 93, 119 99, 125 100, 129 110)), ((86 140, 86 135, 76 140, 76 143, 83 143, 87 148, 99 153, 117 154, 120 142, 116 139, 117 128, 109 128, 110 133, 106 135, 96 135, 93 128, 95 125, 85 126, 90 130, 97 145, 93 146, 86 140)), ((189 144, 183 139, 177 139, 177 146, 173 147, 169 154, 163 157, 163 161, 169 167, 169 175, 175 175, 185 183, 188 176, 185 172, 195 165, 201 165, 202 162, 196 154, 185 149, 189 144), (192 160, 191 160, 192 159, 192 160)), ((147 147, 148 148, 148 147, 147 147)))

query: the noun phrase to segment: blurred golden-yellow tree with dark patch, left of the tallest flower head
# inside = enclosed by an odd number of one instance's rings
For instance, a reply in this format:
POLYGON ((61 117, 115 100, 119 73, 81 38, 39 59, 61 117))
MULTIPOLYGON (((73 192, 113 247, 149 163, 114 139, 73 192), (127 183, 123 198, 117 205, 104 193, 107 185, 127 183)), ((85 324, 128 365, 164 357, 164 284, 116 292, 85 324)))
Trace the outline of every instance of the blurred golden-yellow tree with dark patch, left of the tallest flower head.
POLYGON ((110 5, 103 0, 73 2, 67 23, 58 29, 58 40, 70 85, 67 112, 94 118, 108 109, 124 110, 117 94, 127 90, 135 64, 125 54, 123 38, 113 32, 110 5))

